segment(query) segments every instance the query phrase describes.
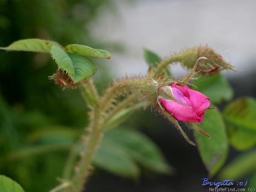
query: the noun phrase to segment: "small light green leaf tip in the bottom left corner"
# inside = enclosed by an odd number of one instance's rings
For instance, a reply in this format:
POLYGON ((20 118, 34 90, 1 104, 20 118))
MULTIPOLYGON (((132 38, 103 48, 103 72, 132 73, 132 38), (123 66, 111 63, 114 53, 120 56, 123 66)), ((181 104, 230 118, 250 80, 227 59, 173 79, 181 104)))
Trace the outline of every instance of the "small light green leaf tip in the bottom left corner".
POLYGON ((0 175, 0 187, 1 192, 24 192, 20 184, 4 175, 0 175))

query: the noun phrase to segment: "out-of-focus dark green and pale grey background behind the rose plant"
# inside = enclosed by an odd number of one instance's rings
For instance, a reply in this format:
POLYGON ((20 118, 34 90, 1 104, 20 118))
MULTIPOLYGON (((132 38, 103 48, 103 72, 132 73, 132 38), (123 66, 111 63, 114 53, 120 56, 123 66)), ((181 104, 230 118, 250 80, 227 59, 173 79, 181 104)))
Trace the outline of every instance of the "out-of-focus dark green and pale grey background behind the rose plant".
MULTIPOLYGON (((255 7, 254 0, 1 0, 0 47, 42 38, 107 49, 111 60, 93 60, 98 67, 94 79, 102 90, 113 78, 146 74, 143 48, 165 57, 209 44, 238 70, 223 73, 234 99, 255 97, 255 7)), ((86 103, 79 89, 62 90, 48 79, 57 66, 47 54, 0 50, 0 67, 0 174, 25 191, 47 191, 58 183, 68 150, 87 125, 86 103), (32 148, 46 143, 55 147, 32 148)), ((178 65, 171 70, 176 77, 186 74, 178 65)), ((209 191, 201 185, 207 170, 197 148, 161 116, 150 109, 138 111, 125 125, 151 138, 175 173, 142 170, 133 180, 96 167, 88 192, 209 191)), ((186 133, 193 138, 192 131, 186 133)), ((237 155, 230 148, 227 163, 237 155)))

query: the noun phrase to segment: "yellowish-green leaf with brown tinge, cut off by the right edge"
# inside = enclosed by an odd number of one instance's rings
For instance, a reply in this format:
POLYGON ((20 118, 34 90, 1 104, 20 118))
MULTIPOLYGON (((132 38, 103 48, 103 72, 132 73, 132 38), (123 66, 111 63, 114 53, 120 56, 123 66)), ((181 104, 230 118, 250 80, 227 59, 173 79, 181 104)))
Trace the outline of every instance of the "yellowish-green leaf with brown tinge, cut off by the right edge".
POLYGON ((240 98, 222 112, 229 142, 237 150, 247 150, 256 144, 256 99, 240 98))

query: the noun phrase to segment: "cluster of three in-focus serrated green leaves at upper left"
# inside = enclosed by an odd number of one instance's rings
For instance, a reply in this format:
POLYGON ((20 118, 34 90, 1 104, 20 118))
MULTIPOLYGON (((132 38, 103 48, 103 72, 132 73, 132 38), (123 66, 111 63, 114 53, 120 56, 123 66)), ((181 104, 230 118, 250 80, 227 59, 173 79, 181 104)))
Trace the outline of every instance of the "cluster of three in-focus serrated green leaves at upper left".
MULTIPOLYGON (((102 49, 93 49, 84 45, 67 45, 63 48, 54 41, 44 41, 40 39, 25 39, 15 41, 8 47, 0 47, 4 50, 12 51, 32 51, 32 52, 50 52, 52 58, 58 64, 58 68, 62 69, 74 83, 88 79, 96 72, 95 64, 83 56, 110 58, 111 54, 102 49), (66 52, 66 51, 67 52, 66 52)), ((63 75, 52 76, 55 82, 60 81, 66 86, 67 78, 63 79, 63 75)))

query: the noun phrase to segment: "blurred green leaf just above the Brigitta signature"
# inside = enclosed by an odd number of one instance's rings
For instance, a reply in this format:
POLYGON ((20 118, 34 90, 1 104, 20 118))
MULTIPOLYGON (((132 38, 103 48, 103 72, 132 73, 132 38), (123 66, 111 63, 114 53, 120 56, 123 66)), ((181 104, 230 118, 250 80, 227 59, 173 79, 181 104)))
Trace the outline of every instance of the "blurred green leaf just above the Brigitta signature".
POLYGON ((218 174, 219 178, 238 180, 256 172, 256 150, 240 154, 218 174))

